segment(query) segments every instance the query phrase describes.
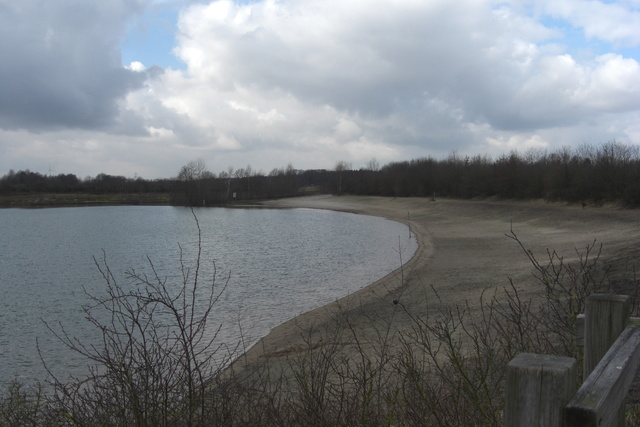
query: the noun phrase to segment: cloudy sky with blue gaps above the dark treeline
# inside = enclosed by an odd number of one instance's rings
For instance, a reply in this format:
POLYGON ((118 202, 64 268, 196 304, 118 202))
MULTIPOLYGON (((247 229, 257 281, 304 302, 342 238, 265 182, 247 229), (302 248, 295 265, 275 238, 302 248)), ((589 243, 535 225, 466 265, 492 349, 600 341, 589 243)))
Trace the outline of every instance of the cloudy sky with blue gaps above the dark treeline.
POLYGON ((0 0, 0 176, 640 144, 640 0, 0 0))

